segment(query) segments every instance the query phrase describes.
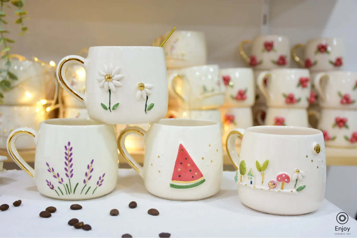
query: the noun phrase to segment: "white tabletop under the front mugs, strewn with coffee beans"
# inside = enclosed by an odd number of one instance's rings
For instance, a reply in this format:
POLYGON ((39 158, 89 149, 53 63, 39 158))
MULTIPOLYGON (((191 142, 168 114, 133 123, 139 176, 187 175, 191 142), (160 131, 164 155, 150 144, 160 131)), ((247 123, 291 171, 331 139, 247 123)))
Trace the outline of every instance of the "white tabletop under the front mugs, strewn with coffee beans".
POLYGON ((356 237, 357 221, 352 217, 340 225, 336 215, 341 209, 323 201, 316 212, 300 216, 280 216, 257 212, 243 205, 238 197, 235 172, 224 172, 218 194, 199 201, 172 201, 151 195, 133 169, 120 169, 116 189, 104 197, 84 201, 62 201, 41 195, 34 181, 22 170, 8 170, 0 175, 0 204, 10 208, 0 211, 1 237, 356 237), (22 204, 12 203, 21 199, 22 204), (130 209, 129 202, 137 208, 130 209), (78 203, 83 209, 70 210, 78 203), (50 218, 39 213, 48 206, 57 208, 50 218), (109 215, 113 208, 117 217, 109 215), (156 208, 160 215, 147 214, 156 208), (75 229, 67 224, 78 218, 92 230, 75 229), (350 227, 350 235, 335 235, 335 226, 350 227))

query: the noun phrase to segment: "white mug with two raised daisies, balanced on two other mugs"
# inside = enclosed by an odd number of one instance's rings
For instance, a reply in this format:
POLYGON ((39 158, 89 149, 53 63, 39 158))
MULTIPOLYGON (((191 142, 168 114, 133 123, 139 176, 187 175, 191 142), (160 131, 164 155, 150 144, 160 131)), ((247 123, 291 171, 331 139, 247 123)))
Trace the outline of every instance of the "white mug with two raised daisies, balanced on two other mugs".
POLYGON ((166 115, 168 90, 164 50, 152 46, 95 46, 88 57, 69 55, 57 65, 57 79, 91 119, 106 124, 150 123, 166 115), (86 70, 86 94, 69 84, 67 63, 86 70))

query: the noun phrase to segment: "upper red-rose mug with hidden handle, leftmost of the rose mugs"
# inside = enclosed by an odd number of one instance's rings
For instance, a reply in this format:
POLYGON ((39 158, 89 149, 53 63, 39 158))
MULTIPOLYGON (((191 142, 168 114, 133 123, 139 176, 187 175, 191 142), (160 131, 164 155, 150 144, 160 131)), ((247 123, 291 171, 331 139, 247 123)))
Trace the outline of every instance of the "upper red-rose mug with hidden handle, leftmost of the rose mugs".
POLYGON ((220 77, 226 86, 227 106, 247 107, 254 105, 255 83, 252 69, 221 69, 220 77))

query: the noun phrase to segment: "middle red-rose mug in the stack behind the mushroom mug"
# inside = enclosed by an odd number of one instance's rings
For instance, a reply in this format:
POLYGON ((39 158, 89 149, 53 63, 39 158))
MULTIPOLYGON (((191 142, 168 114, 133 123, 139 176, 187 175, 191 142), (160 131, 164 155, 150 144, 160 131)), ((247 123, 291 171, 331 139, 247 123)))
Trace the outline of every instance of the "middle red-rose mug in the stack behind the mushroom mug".
POLYGON ((258 75, 257 85, 268 106, 307 108, 310 97, 310 74, 307 69, 272 69, 258 75), (270 79, 265 84, 266 77, 270 79))

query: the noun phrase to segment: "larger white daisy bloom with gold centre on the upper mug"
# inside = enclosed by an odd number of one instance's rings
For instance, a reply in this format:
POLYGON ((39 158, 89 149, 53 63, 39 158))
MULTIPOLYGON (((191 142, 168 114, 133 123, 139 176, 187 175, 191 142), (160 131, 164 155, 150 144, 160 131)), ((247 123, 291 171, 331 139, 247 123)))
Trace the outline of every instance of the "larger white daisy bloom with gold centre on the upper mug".
POLYGON ((99 70, 99 78, 97 80, 100 82, 99 87, 104 88, 106 91, 111 90, 113 92, 116 92, 115 87, 120 87, 121 83, 119 80, 124 78, 124 75, 119 74, 120 73, 120 67, 113 67, 113 64, 110 64, 110 66, 104 65, 103 70, 99 70))

